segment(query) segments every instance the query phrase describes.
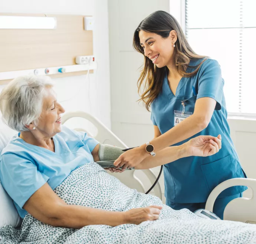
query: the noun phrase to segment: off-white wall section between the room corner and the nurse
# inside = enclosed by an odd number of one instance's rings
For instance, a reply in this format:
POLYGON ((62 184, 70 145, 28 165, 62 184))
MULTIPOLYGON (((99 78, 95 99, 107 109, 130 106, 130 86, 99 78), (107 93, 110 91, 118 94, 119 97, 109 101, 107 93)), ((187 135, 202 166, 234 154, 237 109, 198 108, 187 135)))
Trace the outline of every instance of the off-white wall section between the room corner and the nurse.
MULTIPOLYGON (((169 0, 111 0, 108 3, 112 131, 131 147, 154 136, 150 113, 137 102, 137 80, 144 58, 132 47, 133 34, 149 14, 169 11, 169 7, 169 0)), ((159 168, 154 169, 155 173, 158 171, 159 168)), ((163 177, 160 182, 163 188, 163 177)))

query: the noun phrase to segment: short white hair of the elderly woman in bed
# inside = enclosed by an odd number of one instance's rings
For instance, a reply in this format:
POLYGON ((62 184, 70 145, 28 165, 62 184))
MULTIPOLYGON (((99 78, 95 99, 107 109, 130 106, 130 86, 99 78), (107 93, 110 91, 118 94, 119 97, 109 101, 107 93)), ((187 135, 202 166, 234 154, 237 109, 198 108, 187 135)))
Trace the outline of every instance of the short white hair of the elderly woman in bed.
POLYGON ((25 125, 37 126, 42 112, 45 88, 53 82, 47 76, 22 76, 13 79, 0 94, 3 121, 16 131, 29 131, 25 125))

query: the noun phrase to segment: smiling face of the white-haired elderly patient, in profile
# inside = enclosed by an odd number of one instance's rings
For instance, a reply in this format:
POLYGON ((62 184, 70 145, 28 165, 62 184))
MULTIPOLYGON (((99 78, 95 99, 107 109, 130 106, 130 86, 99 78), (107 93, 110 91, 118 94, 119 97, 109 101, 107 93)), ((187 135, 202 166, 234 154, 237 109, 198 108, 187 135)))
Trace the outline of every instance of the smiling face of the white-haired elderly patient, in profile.
POLYGON ((45 136, 53 136, 61 132, 60 114, 64 112, 65 109, 57 102, 53 89, 47 88, 37 129, 45 136))

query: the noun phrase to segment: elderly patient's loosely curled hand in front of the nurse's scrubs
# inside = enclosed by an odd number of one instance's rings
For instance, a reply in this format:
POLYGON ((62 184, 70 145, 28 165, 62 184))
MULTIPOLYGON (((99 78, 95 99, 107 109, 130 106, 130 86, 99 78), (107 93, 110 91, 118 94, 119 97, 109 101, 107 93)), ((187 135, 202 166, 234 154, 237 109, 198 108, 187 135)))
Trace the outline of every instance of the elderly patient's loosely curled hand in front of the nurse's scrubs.
POLYGON ((184 143, 184 146, 188 156, 211 156, 221 149, 221 135, 197 136, 184 143))

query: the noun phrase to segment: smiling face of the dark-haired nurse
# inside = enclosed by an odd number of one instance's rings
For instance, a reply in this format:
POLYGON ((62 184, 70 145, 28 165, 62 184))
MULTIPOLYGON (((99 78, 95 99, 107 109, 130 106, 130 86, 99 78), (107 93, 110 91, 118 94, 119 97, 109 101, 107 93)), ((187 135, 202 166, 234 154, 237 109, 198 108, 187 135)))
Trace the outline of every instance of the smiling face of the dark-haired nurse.
POLYGON ((144 49, 144 55, 158 68, 172 65, 175 34, 176 33, 171 31, 169 37, 163 38, 158 34, 142 30, 139 32, 140 43, 141 47, 144 49))

